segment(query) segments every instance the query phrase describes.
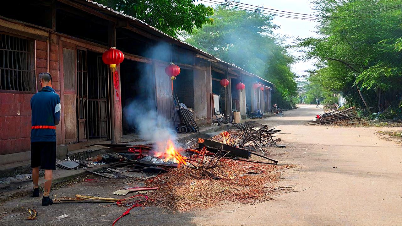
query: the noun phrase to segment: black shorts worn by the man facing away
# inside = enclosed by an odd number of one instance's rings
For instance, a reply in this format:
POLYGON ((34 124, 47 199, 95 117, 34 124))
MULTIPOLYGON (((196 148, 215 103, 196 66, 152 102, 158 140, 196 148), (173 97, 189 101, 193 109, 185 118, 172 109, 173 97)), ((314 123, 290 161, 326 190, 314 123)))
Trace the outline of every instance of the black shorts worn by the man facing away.
POLYGON ((56 169, 56 142, 31 142, 31 166, 56 169))

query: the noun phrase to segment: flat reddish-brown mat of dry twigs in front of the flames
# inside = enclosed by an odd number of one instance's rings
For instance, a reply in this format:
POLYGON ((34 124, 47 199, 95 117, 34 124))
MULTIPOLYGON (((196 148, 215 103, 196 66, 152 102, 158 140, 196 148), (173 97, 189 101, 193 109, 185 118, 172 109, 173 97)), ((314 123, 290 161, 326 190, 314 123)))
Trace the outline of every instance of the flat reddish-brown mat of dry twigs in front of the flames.
POLYGON ((160 187, 149 194, 150 202, 171 211, 184 212, 230 202, 255 204, 272 199, 273 192, 278 191, 275 184, 280 170, 289 167, 223 158, 208 171, 182 166, 146 184, 160 187))

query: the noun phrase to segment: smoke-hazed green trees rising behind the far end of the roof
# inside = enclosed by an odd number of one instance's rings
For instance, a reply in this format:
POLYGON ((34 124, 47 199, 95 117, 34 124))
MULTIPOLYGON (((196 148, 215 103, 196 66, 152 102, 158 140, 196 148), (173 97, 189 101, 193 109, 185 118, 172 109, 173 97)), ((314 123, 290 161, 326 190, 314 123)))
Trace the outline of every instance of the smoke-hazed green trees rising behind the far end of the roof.
POLYGON ((295 101, 294 59, 273 35, 272 16, 228 6, 216 6, 214 12, 214 23, 195 29, 186 42, 273 82, 277 99, 272 101, 281 107, 295 101))

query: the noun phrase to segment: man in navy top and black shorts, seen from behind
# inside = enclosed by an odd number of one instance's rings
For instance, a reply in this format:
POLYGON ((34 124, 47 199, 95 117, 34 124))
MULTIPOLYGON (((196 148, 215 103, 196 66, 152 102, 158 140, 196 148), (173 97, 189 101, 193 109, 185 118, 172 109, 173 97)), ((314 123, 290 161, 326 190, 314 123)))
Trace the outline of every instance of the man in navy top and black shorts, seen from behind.
POLYGON ((31 98, 31 166, 33 197, 39 197, 39 166, 45 170, 42 205, 53 204, 49 198, 52 170, 56 169, 56 126, 60 121, 60 97, 52 88, 49 73, 40 73, 41 90, 31 98))

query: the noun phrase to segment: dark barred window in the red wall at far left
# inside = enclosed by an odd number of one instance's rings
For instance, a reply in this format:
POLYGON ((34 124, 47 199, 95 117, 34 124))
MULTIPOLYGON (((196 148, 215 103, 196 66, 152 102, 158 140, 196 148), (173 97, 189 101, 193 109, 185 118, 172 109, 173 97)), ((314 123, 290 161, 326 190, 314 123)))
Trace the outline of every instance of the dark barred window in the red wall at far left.
POLYGON ((0 34, 0 90, 31 91, 30 50, 29 40, 0 34))

